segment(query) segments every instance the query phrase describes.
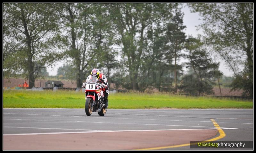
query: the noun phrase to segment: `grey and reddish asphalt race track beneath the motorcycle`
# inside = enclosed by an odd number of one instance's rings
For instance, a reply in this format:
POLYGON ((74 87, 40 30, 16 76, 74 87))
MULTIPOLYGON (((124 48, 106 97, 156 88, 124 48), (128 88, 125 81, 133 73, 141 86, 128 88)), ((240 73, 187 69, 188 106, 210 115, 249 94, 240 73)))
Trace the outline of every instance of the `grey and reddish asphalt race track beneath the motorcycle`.
POLYGON ((204 140, 253 141, 253 110, 3 109, 3 150, 189 150, 204 140))

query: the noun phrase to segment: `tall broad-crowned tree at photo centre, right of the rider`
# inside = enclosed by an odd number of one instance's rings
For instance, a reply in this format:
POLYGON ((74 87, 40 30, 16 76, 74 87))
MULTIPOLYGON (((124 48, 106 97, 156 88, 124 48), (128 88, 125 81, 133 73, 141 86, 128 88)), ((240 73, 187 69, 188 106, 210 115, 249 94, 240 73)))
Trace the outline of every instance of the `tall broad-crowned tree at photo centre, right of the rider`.
MULTIPOLYGON (((172 17, 178 4, 108 4, 108 10, 116 30, 116 42, 122 46, 120 63, 129 72, 129 88, 141 90, 145 73, 143 57, 148 55, 147 33, 152 27, 161 27, 172 17), (162 23, 162 25, 161 25, 162 23), (139 85, 140 84, 140 85, 139 85)), ((144 88, 144 87, 143 87, 144 88)))

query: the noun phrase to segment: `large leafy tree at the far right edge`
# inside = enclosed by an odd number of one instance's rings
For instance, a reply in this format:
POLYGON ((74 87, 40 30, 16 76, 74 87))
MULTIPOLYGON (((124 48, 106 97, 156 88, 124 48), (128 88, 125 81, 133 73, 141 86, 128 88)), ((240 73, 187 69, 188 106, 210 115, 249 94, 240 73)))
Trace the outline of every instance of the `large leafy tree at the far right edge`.
POLYGON ((204 23, 206 42, 233 70, 232 89, 253 95, 253 3, 189 4, 204 23), (239 70, 239 65, 244 67, 239 70))

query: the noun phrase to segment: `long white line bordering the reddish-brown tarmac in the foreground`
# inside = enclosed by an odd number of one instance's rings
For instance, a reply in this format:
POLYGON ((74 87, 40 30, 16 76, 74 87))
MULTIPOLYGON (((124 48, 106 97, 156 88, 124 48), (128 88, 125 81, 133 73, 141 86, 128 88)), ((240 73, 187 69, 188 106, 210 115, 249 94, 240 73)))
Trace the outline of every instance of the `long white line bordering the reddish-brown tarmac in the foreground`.
POLYGON ((137 131, 175 131, 175 130, 217 130, 217 129, 234 129, 234 128, 208 128, 208 129, 160 129, 160 130, 117 130, 117 131, 84 131, 84 132, 51 132, 51 133, 23 133, 23 134, 3 134, 11 135, 41 135, 41 134, 76 134, 76 133, 101 133, 101 132, 137 132, 137 131))

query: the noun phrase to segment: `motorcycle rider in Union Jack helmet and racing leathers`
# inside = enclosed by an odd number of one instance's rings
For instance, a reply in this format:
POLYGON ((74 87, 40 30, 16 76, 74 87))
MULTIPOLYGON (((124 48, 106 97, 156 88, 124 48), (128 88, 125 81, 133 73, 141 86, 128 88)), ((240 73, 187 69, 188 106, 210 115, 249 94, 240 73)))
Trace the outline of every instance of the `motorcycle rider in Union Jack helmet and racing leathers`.
POLYGON ((105 91, 104 91, 104 103, 105 103, 105 105, 104 105, 104 107, 108 108, 108 93, 109 93, 109 90, 108 90, 108 80, 107 80, 107 77, 104 74, 100 73, 99 69, 95 69, 94 68, 94 69, 92 69, 91 75, 89 75, 86 78, 85 84, 87 83, 88 80, 91 79, 92 76, 97 77, 99 79, 98 83, 100 83, 105 88, 105 91))

